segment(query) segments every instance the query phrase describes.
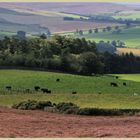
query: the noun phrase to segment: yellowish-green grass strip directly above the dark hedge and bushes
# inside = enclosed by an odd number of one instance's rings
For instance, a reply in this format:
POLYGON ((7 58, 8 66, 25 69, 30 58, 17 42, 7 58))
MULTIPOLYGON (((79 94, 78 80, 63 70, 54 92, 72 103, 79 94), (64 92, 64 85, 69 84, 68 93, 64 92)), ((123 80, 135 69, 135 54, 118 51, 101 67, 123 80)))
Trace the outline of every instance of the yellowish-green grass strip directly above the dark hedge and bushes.
POLYGON ((12 106, 28 99, 54 103, 72 102, 81 108, 140 109, 140 95, 134 96, 133 94, 8 94, 0 95, 0 105, 12 106))

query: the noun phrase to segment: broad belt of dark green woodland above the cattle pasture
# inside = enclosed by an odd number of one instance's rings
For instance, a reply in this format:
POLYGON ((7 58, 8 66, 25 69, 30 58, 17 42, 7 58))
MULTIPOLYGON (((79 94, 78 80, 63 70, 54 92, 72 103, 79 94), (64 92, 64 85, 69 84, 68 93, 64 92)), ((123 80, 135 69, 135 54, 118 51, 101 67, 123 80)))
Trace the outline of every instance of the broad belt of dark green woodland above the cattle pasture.
POLYGON ((140 73, 140 57, 132 53, 99 53, 95 42, 54 36, 51 39, 0 40, 0 67, 29 67, 66 73, 140 73))

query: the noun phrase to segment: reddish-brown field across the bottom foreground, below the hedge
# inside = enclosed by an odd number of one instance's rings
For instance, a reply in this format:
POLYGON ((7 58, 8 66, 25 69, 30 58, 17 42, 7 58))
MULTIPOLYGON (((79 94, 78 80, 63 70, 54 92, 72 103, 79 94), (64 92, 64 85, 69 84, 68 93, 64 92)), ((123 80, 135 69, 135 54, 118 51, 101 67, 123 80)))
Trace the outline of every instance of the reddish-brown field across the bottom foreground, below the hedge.
POLYGON ((140 117, 89 117, 0 107, 0 137, 140 137, 140 117))

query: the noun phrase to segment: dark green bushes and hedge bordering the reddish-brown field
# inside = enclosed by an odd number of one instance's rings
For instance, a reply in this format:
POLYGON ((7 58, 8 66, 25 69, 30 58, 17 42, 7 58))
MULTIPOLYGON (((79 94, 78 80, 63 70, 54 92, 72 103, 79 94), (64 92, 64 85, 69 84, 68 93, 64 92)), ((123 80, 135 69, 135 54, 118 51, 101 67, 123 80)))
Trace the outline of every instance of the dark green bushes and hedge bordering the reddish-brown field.
POLYGON ((100 109, 100 108, 79 108, 73 103, 52 103, 50 101, 28 100, 12 106, 22 110, 44 110, 47 112, 58 112, 64 114, 89 115, 89 116, 120 116, 140 114, 140 109, 100 109))

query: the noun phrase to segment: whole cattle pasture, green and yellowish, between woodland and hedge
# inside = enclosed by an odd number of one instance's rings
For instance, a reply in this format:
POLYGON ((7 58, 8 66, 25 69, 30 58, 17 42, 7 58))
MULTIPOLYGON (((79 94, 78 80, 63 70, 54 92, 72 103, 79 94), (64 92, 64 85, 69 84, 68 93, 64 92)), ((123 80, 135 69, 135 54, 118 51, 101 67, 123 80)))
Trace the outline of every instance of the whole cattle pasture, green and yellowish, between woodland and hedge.
POLYGON ((140 83, 131 81, 135 80, 135 77, 130 81, 122 80, 123 78, 116 79, 111 75, 88 77, 53 72, 0 70, 0 105, 11 106, 20 101, 33 99, 50 100, 55 103, 73 102, 80 107, 140 108, 140 83), (56 82, 57 78, 60 78, 60 82, 56 82), (127 83, 126 87, 122 84, 124 81, 127 83), (110 82, 116 82, 119 87, 111 87, 110 82), (51 89, 52 94, 35 91, 10 92, 5 90, 5 86, 8 85, 12 86, 13 90, 33 90, 34 86, 40 86, 51 89), (72 91, 77 91, 77 94, 71 94, 72 91), (101 94, 98 94, 99 92, 101 94), (134 96, 135 92, 137 96, 134 96))

